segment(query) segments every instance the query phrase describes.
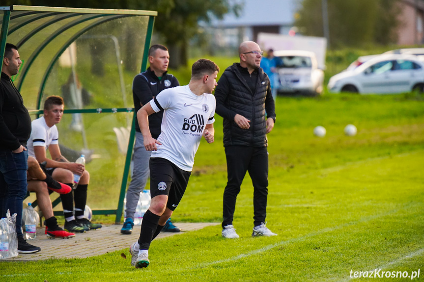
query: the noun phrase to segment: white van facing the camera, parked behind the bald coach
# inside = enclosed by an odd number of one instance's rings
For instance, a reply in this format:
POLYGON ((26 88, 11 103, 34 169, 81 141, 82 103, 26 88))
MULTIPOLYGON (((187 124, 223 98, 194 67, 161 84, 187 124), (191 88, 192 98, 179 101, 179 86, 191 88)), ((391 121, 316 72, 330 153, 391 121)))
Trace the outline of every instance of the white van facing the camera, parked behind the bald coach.
POLYGON ((284 50, 274 51, 274 56, 282 60, 278 68, 278 93, 322 93, 324 72, 318 68, 314 52, 284 50))

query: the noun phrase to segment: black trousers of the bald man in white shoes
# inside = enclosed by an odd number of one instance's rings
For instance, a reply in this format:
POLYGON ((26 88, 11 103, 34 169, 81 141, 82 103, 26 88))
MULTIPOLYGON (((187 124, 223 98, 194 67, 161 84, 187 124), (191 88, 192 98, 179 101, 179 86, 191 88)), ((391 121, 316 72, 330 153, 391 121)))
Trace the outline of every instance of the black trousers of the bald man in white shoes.
POLYGON ((268 151, 266 147, 227 146, 227 183, 224 190, 222 227, 232 224, 237 195, 246 171, 252 179, 254 226, 265 222, 268 197, 268 151))

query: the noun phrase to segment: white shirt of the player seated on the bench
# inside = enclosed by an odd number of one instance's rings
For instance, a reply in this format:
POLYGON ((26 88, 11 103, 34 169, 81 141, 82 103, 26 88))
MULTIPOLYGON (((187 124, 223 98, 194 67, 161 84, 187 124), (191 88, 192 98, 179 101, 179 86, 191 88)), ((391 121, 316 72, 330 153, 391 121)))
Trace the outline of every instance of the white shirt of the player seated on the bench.
POLYGON ((33 120, 31 127, 31 135, 27 142, 28 155, 35 157, 34 146, 43 146, 47 151, 51 144, 58 144, 59 132, 56 125, 49 128, 44 117, 33 120))

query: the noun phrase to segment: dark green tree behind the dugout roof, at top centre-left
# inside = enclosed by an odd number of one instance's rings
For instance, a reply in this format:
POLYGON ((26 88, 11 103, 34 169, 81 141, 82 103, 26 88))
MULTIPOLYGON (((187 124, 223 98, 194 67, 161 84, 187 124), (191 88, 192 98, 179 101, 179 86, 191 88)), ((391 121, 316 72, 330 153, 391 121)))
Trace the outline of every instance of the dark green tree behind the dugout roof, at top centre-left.
POLYGON ((2 6, 33 5, 93 9, 136 9, 157 11, 154 32, 170 50, 170 67, 187 65, 188 44, 198 33, 198 22, 212 17, 222 19, 227 13, 238 14, 241 1, 235 0, 2 0, 2 6))

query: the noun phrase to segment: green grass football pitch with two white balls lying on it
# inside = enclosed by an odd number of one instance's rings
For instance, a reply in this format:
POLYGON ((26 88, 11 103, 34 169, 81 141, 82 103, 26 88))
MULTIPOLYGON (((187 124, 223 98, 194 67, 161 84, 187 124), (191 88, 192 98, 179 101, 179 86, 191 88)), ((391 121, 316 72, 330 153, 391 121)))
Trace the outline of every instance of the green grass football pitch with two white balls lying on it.
MULTIPOLYGON (((215 128, 215 143, 200 144, 176 223, 221 221, 226 162, 218 116, 215 128)), ((278 236, 251 237, 246 176, 234 217, 239 239, 223 239, 216 226, 155 240, 151 265, 141 270, 120 257, 127 249, 0 262, 0 281, 372 281, 350 271, 375 268, 380 276, 420 269, 414 281, 424 281, 423 96, 279 97, 268 139, 267 227, 278 236), (343 134, 347 124, 356 136, 343 134), (324 138, 312 134, 318 125, 327 129, 324 138)))

